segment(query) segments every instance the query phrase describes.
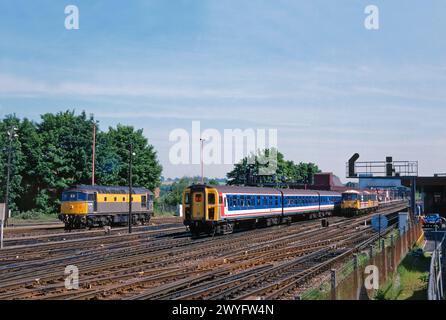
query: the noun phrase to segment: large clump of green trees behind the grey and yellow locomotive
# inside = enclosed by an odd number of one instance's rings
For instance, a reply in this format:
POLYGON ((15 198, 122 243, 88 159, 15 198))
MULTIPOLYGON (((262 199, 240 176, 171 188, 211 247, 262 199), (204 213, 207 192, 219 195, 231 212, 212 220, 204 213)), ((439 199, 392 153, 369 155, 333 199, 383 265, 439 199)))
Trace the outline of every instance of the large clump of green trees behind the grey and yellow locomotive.
POLYGON ((75 184, 91 184, 92 132, 96 135, 96 184, 127 185, 129 143, 135 153, 134 185, 154 190, 160 185, 162 167, 157 153, 142 129, 117 125, 101 131, 94 116, 67 110, 41 115, 40 121, 7 115, 0 122, 0 199, 5 198, 9 138, 7 131, 16 127, 12 141, 10 209, 13 212, 58 212, 62 191, 75 184))

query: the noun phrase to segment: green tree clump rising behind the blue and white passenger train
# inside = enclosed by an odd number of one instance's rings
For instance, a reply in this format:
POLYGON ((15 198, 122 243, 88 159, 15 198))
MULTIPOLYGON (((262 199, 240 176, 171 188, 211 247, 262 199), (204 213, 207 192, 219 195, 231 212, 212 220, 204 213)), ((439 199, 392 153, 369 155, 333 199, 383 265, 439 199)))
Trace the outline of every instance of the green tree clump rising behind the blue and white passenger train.
POLYGON ((313 176, 317 172, 320 170, 314 163, 300 162, 296 164, 294 161, 285 160, 284 155, 275 149, 265 149, 256 155, 251 154, 235 164, 233 170, 228 172, 227 178, 229 185, 312 183, 313 176), (265 159, 270 160, 266 162, 265 159), (272 174, 262 175, 260 171, 262 167, 274 166, 276 170, 272 174))

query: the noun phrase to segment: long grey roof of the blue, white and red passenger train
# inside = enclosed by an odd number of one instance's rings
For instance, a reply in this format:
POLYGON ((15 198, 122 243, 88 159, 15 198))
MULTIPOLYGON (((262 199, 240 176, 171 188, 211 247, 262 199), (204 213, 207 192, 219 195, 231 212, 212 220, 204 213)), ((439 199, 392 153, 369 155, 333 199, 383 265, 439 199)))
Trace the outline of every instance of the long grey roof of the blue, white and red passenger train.
MULTIPOLYGON (((199 185, 196 185, 199 186, 199 185)), ((285 195, 331 195, 340 196, 339 192, 334 191, 322 191, 322 190, 304 190, 304 189, 278 189, 269 187, 242 187, 242 186, 210 186, 206 185, 208 188, 215 188, 218 192, 222 193, 255 193, 255 194, 273 194, 281 195, 281 192, 285 195)))

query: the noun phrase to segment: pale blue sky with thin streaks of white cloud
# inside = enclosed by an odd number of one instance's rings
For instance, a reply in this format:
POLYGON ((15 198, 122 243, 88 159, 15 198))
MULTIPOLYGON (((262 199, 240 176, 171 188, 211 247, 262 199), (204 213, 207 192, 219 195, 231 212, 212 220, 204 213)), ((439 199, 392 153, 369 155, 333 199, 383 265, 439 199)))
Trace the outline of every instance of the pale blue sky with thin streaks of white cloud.
MULTIPOLYGON (((166 177, 171 130, 276 128, 286 158, 419 160, 446 171, 444 0, 2 0, 0 116, 66 109, 144 128, 166 177), (75 4, 80 29, 64 28, 75 4), (377 5, 380 29, 364 28, 377 5)), ((222 177, 228 166, 206 168, 222 177)))

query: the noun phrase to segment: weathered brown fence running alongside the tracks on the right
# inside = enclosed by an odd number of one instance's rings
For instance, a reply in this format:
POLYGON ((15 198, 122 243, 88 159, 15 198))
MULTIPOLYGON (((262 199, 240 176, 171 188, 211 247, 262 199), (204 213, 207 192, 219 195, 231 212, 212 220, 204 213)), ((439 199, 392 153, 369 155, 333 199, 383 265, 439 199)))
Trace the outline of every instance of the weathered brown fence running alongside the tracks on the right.
POLYGON ((366 288, 370 270, 378 274, 377 283, 385 284, 396 271, 400 262, 411 248, 423 239, 421 224, 411 222, 402 234, 388 229, 388 233, 373 244, 358 250, 350 260, 339 263, 338 267, 316 281, 300 299, 328 300, 369 300, 373 299, 377 288, 366 288), (366 272, 367 271, 367 272, 366 272))

